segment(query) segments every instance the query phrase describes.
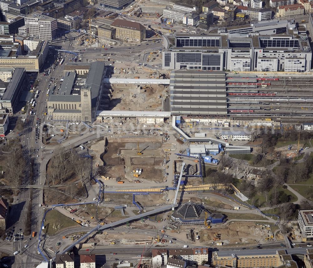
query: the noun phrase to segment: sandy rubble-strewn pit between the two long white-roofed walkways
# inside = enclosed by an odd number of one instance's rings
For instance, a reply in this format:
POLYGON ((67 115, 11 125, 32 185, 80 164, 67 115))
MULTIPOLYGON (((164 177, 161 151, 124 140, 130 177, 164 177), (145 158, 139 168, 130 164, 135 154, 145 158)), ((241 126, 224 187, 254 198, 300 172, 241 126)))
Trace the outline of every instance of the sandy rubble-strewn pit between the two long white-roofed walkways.
POLYGON ((112 84, 109 110, 162 111, 162 98, 167 96, 163 85, 112 84), (141 87, 141 89, 140 89, 141 87))

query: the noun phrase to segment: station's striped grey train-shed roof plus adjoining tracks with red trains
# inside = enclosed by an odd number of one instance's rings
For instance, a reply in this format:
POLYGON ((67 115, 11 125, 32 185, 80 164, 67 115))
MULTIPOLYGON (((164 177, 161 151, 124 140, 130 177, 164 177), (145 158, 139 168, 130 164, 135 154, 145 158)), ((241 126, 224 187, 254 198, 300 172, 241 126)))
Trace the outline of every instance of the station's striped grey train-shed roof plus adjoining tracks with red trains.
POLYGON ((307 120, 313 117, 313 78, 172 71, 171 115, 307 120))

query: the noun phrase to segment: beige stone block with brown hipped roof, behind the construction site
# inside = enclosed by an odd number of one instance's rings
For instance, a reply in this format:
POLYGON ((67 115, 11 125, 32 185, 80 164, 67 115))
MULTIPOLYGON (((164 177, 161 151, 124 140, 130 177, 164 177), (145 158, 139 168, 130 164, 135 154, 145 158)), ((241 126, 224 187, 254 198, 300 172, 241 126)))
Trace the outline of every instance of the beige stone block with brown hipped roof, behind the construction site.
POLYGON ((143 39, 146 38, 146 27, 138 22, 115 19, 111 26, 116 29, 116 39, 141 43, 143 39))

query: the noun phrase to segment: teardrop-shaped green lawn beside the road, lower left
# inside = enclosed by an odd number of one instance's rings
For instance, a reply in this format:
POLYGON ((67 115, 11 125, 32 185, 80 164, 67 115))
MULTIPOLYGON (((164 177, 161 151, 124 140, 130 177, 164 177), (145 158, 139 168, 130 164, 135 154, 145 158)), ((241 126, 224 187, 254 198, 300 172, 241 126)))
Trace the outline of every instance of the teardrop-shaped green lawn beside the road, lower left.
POLYGON ((78 227, 81 226, 80 224, 76 223, 72 219, 64 216, 62 213, 59 213, 56 210, 50 210, 46 214, 46 218, 44 221, 44 232, 48 234, 49 236, 53 236, 56 232, 59 232, 59 230, 69 227, 78 227), (60 224, 60 229, 57 228, 56 230, 53 228, 54 226, 58 226, 60 224))

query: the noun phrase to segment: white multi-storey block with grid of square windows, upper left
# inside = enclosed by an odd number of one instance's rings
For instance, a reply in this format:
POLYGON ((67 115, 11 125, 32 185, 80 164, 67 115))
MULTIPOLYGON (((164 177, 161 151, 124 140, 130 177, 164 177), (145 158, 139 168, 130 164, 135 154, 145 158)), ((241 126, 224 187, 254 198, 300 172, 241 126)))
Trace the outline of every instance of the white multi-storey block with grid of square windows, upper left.
POLYGON ((58 28, 57 19, 36 11, 25 17, 25 26, 29 27, 29 35, 44 40, 53 40, 58 28))

